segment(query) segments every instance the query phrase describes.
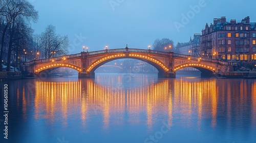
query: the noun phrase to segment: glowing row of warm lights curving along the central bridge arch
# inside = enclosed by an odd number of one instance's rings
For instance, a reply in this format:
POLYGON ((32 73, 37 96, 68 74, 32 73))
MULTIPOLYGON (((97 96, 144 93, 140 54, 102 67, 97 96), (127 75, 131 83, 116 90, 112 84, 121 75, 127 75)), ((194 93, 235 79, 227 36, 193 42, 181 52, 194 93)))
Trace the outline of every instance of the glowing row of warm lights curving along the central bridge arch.
MULTIPOLYGON (((109 59, 113 59, 113 58, 117 58, 117 57, 125 57, 125 54, 117 54, 117 55, 112 55, 112 56, 108 56, 108 57, 104 57, 101 59, 98 59, 97 61, 95 61, 94 63, 92 63, 88 69, 87 72, 90 72, 93 67, 95 67, 96 65, 100 64, 103 61, 109 60, 109 59)), ((140 58, 140 59, 145 59, 151 62, 156 63, 157 65, 159 65, 160 67, 162 67, 164 69, 164 71, 169 71, 169 69, 167 68, 167 66, 165 66, 161 61, 152 58, 152 57, 148 57, 148 56, 144 56, 144 55, 139 55, 139 54, 129 54, 129 57, 135 57, 135 58, 140 58)))

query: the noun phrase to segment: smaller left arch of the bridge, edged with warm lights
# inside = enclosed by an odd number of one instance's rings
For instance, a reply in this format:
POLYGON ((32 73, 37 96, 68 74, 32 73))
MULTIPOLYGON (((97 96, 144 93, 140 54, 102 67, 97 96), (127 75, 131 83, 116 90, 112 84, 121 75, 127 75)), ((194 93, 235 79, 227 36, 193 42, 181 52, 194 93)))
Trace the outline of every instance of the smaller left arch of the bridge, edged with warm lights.
POLYGON ((42 65, 38 65, 38 67, 35 69, 35 73, 39 74, 41 71, 45 71, 47 69, 51 69, 51 68, 59 68, 59 67, 69 67, 69 68, 73 68, 75 70, 77 70, 78 72, 82 71, 81 67, 78 67, 76 65, 70 64, 70 63, 47 63, 47 64, 42 64, 42 65))

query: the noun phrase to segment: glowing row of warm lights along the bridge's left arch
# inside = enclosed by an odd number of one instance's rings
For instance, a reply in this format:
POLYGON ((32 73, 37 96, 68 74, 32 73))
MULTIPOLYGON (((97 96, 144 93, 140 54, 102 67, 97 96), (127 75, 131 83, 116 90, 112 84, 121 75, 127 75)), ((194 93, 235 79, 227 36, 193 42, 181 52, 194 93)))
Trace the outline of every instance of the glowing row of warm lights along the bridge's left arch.
POLYGON ((78 72, 82 71, 82 68, 75 66, 75 65, 71 65, 71 64, 67 64, 67 63, 58 63, 58 64, 48 64, 48 65, 44 65, 39 67, 37 70, 35 70, 36 74, 38 74, 40 71, 43 71, 45 69, 49 69, 49 68, 54 68, 54 67, 70 67, 73 68, 75 70, 77 70, 78 72))

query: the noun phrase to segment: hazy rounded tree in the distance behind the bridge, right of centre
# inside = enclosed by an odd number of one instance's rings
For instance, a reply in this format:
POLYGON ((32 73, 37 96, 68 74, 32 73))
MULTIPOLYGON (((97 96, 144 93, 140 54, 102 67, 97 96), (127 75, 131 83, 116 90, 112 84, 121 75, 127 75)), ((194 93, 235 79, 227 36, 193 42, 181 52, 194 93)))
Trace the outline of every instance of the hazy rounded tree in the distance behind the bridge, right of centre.
POLYGON ((174 41, 168 38, 156 39, 153 43, 153 49, 158 51, 169 51, 169 46, 173 48, 174 41), (166 49, 165 49, 166 47, 166 49))

